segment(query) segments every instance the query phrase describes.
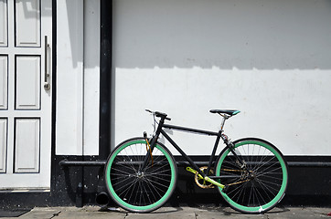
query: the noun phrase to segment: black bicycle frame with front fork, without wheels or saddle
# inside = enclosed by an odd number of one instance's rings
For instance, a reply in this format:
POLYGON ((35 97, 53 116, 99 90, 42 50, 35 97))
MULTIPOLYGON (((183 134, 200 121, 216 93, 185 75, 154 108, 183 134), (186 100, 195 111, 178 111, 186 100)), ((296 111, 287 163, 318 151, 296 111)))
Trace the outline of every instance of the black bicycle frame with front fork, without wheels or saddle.
MULTIPOLYGON (((214 144, 214 148, 213 151, 210 155, 209 158, 209 162, 208 162, 208 169, 207 172, 210 171, 211 169, 211 164, 215 159, 215 154, 216 151, 218 149, 219 146, 219 140, 222 139, 224 141, 224 143, 226 144, 226 147, 230 149, 230 151, 232 152, 232 154, 234 154, 234 156, 236 157, 236 159, 240 162, 240 164, 242 165, 242 161, 239 159, 238 155, 236 154, 236 152, 232 149, 232 147, 230 146, 230 141, 228 141, 228 137, 223 134, 223 130, 219 130, 219 132, 214 132, 214 131, 208 131, 208 130, 197 130, 197 129, 191 129, 191 128, 187 128, 187 127, 181 127, 181 126, 175 126, 175 125, 168 125, 165 124, 165 118, 161 118, 161 120, 159 121, 159 124, 157 126, 157 129, 155 131, 155 136, 152 138, 152 141, 150 143, 151 145, 151 150, 153 151, 155 148, 155 143, 159 138, 159 135, 162 134, 163 136, 165 136, 165 139, 167 141, 169 141, 175 148, 176 151, 178 151, 186 160, 187 162, 189 162, 189 164, 198 171, 198 173, 203 176, 206 177, 207 175, 204 172, 201 172, 201 170, 199 169, 198 165, 192 161, 192 159, 190 159, 187 154, 176 144, 175 141, 173 141, 166 133, 165 130, 163 130, 163 128, 168 129, 168 130, 182 130, 182 131, 187 131, 187 132, 191 132, 191 133, 196 133, 196 134, 203 134, 203 135, 208 135, 208 136, 217 136, 215 144, 214 144)), ((149 160, 149 153, 147 152, 146 157, 144 159, 144 165, 142 166, 142 168, 144 169, 144 167, 146 166, 148 160, 149 160)), ((223 177, 216 177, 216 176, 208 176, 209 178, 223 178, 223 177)))

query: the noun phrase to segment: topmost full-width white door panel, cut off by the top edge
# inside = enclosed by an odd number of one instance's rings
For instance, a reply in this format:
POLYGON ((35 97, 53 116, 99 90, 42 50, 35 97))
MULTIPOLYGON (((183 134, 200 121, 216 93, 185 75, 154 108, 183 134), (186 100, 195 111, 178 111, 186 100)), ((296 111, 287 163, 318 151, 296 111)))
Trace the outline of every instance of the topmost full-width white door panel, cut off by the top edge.
POLYGON ((40 0, 16 0, 16 47, 40 47, 40 0))

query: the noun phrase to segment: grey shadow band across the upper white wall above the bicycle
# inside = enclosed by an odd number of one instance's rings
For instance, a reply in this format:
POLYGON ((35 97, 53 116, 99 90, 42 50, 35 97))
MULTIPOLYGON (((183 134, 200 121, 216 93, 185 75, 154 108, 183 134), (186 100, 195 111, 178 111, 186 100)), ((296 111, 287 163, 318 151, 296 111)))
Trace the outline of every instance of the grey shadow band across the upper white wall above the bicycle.
POLYGON ((114 0, 114 68, 330 69, 330 0, 114 0))

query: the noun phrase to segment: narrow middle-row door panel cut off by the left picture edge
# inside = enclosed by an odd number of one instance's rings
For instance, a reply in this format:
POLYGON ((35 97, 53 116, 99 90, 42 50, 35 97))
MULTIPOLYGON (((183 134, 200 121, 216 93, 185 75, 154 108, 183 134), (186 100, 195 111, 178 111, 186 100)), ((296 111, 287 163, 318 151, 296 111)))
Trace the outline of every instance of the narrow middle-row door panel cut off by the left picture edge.
POLYGON ((0 110, 7 108, 8 57, 0 56, 0 110))

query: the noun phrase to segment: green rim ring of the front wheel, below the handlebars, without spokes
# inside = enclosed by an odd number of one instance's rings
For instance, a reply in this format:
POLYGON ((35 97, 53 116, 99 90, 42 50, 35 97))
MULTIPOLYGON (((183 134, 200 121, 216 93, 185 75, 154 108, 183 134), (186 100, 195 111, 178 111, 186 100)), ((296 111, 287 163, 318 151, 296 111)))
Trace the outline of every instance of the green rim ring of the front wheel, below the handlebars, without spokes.
POLYGON ((130 146, 130 145, 133 145, 133 144, 136 144, 136 143, 145 143, 145 141, 130 141, 130 142, 127 142, 125 144, 123 144, 122 147, 120 147, 119 149, 117 149, 116 151, 114 151, 114 153, 112 154, 111 156, 111 159, 110 161, 108 162, 107 164, 107 169, 106 169, 106 183, 107 183, 107 186, 109 188, 109 191, 110 193, 112 193, 112 196, 113 198, 118 202, 118 203, 121 203, 123 205, 123 207, 126 207, 128 209, 133 209, 135 211, 147 211, 149 209, 154 209, 154 208, 157 208, 158 205, 160 204, 163 204, 165 202, 165 200, 168 198, 169 195, 171 195, 171 192, 172 192, 172 188, 173 186, 175 186, 175 182, 176 182, 176 168, 175 168, 175 165, 174 165, 174 162, 172 161, 172 158, 171 156, 168 154, 167 151, 165 151, 165 149, 163 149, 162 147, 160 147, 159 145, 156 144, 156 148, 160 151, 162 151, 164 154, 165 154, 165 157, 167 159, 167 161, 169 162, 169 165, 170 165, 170 169, 171 169, 171 182, 170 182, 170 185, 165 193, 165 195, 160 199, 158 200, 156 203, 152 203, 152 204, 149 204, 149 205, 145 205, 145 206, 136 206, 136 205, 133 205, 133 204, 130 204, 130 203, 125 203, 115 192, 114 190, 112 189, 112 182, 111 182, 111 167, 112 167, 112 162, 113 160, 115 159, 115 157, 117 156, 117 154, 120 152, 120 151, 123 151, 124 148, 130 146))

